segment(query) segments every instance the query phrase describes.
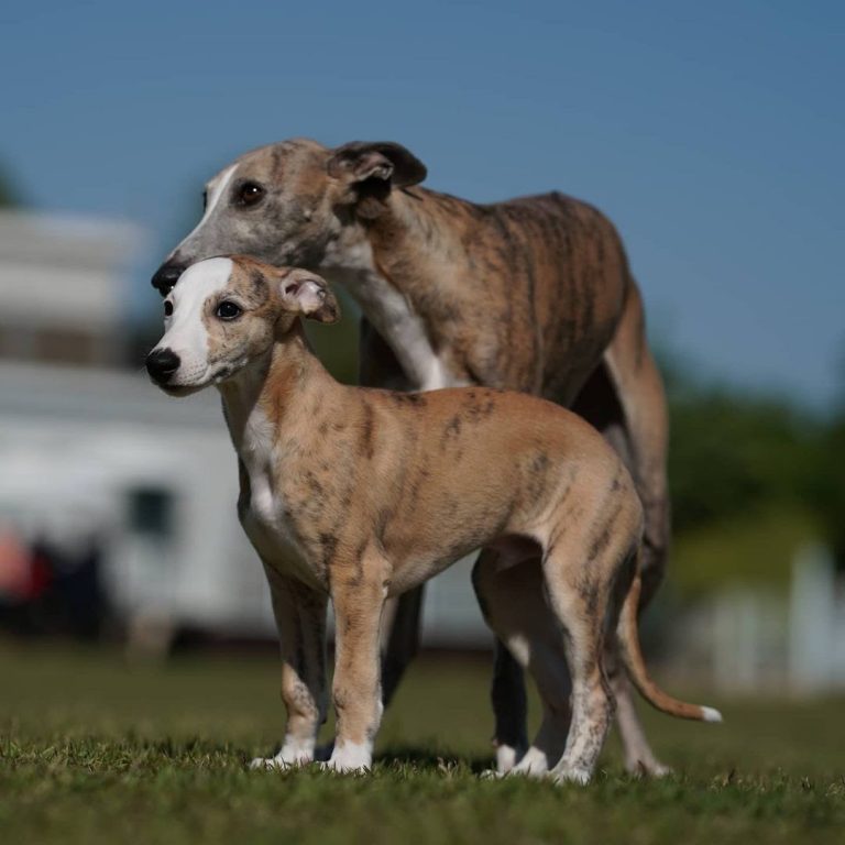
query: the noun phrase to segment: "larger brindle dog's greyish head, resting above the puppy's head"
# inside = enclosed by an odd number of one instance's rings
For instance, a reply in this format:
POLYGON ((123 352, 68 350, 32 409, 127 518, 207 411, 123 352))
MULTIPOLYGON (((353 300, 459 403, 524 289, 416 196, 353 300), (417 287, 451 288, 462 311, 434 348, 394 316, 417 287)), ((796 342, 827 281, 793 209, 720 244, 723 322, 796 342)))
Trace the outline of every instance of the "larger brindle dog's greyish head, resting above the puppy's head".
POLYGON ((344 224, 376 216, 393 189, 425 177, 411 153, 386 141, 330 150, 296 139, 254 150, 206 185, 202 218, 153 286, 166 296, 186 267, 212 255, 318 267, 344 224))

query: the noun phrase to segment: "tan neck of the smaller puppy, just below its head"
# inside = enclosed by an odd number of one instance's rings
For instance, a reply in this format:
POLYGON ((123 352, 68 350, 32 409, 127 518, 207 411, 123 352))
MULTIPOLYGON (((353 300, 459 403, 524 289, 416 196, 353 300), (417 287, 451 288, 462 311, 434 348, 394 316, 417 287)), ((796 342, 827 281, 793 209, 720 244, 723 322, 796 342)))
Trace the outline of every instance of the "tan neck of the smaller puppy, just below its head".
POLYGON ((261 356, 218 385, 238 454, 245 459, 259 448, 257 441, 278 442, 282 430, 299 424, 311 428, 309 397, 340 387, 310 351, 297 320, 261 356))

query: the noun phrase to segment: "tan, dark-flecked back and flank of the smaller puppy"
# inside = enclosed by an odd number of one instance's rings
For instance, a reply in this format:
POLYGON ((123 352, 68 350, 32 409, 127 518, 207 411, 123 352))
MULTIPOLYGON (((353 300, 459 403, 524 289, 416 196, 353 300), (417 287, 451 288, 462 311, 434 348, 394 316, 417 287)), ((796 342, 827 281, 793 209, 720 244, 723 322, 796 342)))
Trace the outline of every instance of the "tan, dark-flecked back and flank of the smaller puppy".
MULTIPOLYGON (((486 388, 399 394, 349 388, 358 519, 396 561, 397 591, 511 535, 545 540, 563 511, 589 528, 606 497, 638 539, 641 508, 627 470, 577 415, 544 399, 486 388), (426 574, 422 573, 426 570, 426 574)), ((596 529, 600 530, 600 529, 596 529)))

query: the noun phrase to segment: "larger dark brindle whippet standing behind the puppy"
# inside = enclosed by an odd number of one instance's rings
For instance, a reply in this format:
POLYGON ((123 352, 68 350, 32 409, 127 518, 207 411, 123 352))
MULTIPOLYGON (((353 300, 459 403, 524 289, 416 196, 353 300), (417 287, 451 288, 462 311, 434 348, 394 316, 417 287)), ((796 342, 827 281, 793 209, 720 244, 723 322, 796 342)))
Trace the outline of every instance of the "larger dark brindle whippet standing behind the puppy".
MULTIPOLYGON (((643 304, 619 238, 584 202, 548 194, 479 206, 418 187, 425 166, 394 143, 330 150, 294 140, 246 153, 207 186, 196 229, 153 278, 166 294, 200 259, 248 253, 319 268, 358 299, 361 382, 399 389, 479 384, 573 408, 623 456, 645 505, 643 604, 669 535, 667 416, 643 304)), ((483 566, 494 550, 480 558, 483 566)), ((523 568, 520 578, 536 583, 523 568)), ((504 577, 503 577, 504 578, 504 577)), ((511 577, 508 577, 509 579, 511 577)), ((487 579, 476 579, 482 604, 487 579)), ((534 596, 541 605, 539 592, 534 596)), ((387 614, 385 699, 416 651, 420 593, 387 614)), ((608 662, 632 770, 660 772, 624 672, 608 662)), ((500 769, 526 746, 522 673, 497 649, 500 769)))

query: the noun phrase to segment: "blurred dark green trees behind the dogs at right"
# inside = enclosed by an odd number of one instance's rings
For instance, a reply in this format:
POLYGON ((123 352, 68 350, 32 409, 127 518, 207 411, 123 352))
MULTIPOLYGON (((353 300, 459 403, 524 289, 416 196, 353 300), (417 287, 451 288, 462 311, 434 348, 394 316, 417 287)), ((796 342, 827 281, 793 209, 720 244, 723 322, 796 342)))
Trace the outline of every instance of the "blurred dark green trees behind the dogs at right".
POLYGON ((845 411, 820 418, 786 396, 702 386, 677 362, 665 371, 676 533, 794 507, 845 557, 845 411))

